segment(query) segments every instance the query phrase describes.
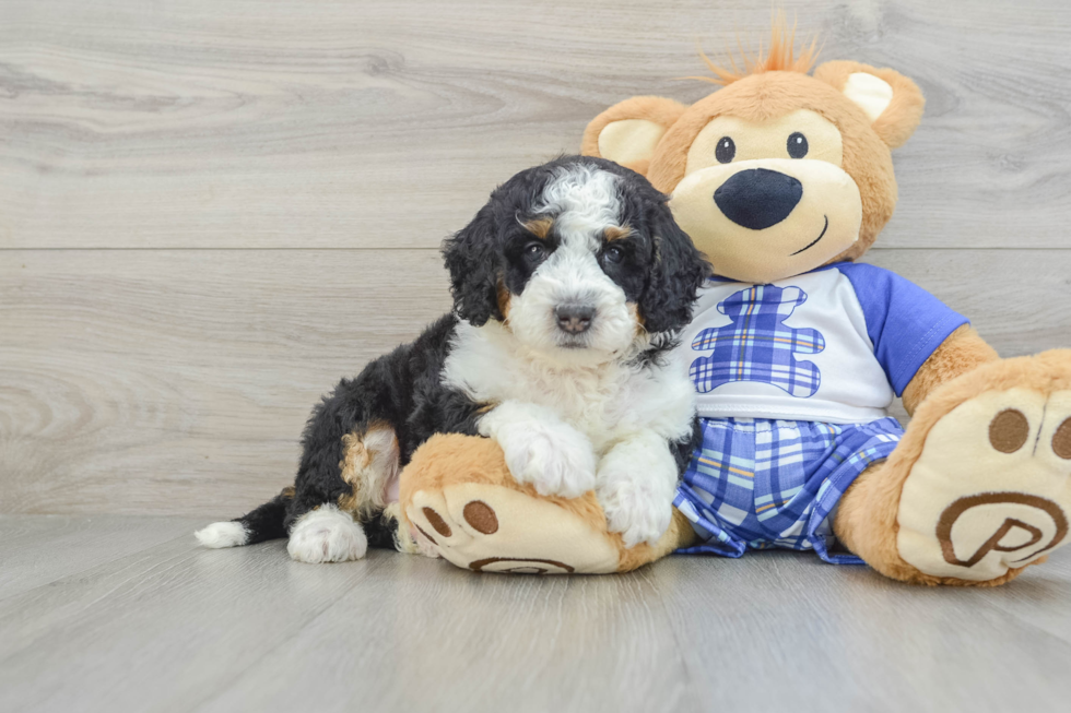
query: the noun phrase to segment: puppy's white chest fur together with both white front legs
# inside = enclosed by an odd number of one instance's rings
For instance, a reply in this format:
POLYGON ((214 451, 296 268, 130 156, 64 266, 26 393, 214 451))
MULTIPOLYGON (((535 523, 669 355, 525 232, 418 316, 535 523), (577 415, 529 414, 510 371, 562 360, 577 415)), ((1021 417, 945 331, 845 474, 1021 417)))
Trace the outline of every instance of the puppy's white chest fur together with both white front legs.
POLYGON ((479 428, 503 447, 519 482, 580 495, 591 487, 591 449, 602 457, 596 494, 612 528, 632 545, 657 540, 669 526, 678 472, 668 443, 688 437, 695 408, 675 355, 648 368, 563 368, 533 357, 501 324, 462 322, 444 381, 473 401, 499 403, 479 428))

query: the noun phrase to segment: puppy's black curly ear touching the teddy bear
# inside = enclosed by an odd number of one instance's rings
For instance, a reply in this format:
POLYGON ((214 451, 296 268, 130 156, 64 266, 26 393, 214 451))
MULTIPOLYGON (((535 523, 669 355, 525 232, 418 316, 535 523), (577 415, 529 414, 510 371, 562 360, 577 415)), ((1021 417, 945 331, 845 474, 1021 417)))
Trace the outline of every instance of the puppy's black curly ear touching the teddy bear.
POLYGON ((696 290, 710 275, 710 265, 673 219, 664 199, 648 212, 655 243, 650 281, 639 298, 639 313, 651 334, 683 329, 692 320, 696 290))

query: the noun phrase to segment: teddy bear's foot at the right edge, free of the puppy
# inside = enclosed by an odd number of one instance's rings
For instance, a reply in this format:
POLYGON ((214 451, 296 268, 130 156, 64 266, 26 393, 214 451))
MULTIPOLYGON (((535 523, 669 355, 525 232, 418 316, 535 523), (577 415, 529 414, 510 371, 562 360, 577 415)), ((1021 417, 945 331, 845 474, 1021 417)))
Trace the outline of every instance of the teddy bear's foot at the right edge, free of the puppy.
POLYGON ((1011 579, 1071 539, 1071 352, 978 371, 927 400, 888 462, 908 468, 899 557, 944 583, 1011 579))

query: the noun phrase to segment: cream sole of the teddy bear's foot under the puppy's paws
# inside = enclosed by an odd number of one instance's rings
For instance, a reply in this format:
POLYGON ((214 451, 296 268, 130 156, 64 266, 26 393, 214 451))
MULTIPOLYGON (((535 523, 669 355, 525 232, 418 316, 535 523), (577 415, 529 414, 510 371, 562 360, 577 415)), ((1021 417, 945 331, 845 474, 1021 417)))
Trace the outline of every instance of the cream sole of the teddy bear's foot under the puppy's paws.
POLYGON ((616 546, 576 513, 510 488, 479 483, 419 490, 405 510, 445 559, 476 572, 613 572, 616 546))

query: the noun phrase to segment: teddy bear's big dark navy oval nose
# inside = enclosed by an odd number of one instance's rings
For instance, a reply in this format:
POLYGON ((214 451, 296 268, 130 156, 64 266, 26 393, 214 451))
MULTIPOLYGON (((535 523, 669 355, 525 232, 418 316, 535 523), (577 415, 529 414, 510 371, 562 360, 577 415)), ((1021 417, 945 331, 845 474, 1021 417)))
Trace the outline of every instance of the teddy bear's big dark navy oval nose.
POLYGON ((803 185, 776 170, 742 170, 714 192, 726 217, 752 230, 763 230, 788 217, 803 198, 803 185))

